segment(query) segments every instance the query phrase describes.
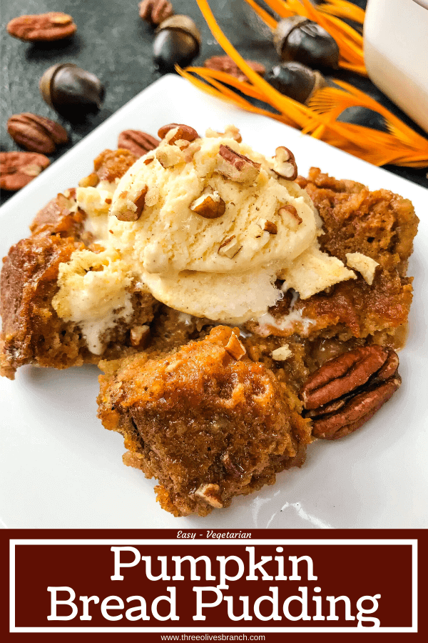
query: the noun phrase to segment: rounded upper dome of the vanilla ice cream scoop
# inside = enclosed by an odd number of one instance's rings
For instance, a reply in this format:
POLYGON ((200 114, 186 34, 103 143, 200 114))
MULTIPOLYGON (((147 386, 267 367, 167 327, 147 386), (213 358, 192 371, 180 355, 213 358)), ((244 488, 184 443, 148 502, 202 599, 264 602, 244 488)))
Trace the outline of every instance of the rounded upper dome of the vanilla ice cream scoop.
POLYGON ((317 226, 309 197, 295 184, 290 191, 290 181, 271 171, 264 156, 234 139, 198 139, 196 146, 200 149, 188 162, 188 147, 181 151, 175 146, 174 164, 163 167, 158 157, 162 160, 164 149, 173 147, 164 139, 150 155, 151 163, 147 164, 147 156, 138 159, 119 182, 109 229, 123 255, 132 254, 134 270, 242 272, 271 261, 287 264, 315 240, 317 226), (255 181, 245 184, 218 172, 220 145, 260 164, 255 181), (133 201, 144 189, 148 190, 146 203, 138 220, 119 220, 117 216, 132 214, 133 201), (213 193, 223 200, 224 214, 207 219, 192 210, 201 195, 213 193), (278 214, 287 205, 295 207, 300 222, 278 214), (263 229, 265 221, 276 226, 276 234, 263 229), (230 238, 236 254, 222 252, 222 244, 230 238))

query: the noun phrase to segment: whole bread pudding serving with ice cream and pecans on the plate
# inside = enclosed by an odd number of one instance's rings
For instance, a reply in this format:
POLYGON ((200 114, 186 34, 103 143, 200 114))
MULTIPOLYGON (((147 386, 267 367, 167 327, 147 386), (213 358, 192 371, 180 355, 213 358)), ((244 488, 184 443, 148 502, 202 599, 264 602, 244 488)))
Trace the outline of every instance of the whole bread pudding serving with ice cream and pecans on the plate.
POLYGON ((106 150, 1 271, 1 369, 91 362, 99 416, 175 515, 207 514, 367 422, 399 387, 410 201, 297 176, 238 129, 106 150))

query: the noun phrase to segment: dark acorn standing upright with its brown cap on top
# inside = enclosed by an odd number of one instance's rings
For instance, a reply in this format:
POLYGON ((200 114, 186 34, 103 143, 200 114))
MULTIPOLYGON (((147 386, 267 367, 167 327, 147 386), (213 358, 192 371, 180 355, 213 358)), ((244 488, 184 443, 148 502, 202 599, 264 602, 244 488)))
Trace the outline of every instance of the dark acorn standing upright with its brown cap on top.
POLYGON ((200 31, 188 16, 170 16, 156 29, 153 61, 161 71, 185 67, 199 54, 200 31))

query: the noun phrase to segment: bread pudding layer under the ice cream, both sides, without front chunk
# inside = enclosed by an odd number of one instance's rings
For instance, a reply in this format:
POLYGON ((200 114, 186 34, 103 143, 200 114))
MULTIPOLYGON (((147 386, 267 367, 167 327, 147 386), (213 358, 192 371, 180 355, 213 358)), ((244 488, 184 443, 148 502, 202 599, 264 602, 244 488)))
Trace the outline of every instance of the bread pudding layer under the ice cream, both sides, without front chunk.
MULTIPOLYGON (((134 160, 127 150, 106 150, 81 186, 114 186, 134 160)), ((357 279, 342 281, 308 299, 299 299, 289 289, 265 319, 245 324, 251 359, 263 361, 295 390, 320 362, 355 345, 402 346, 412 301, 412 278, 405 276, 407 259, 417 230, 412 204, 389 191, 370 192, 362 184, 333 179, 317 168, 310 170, 307 179, 298 177, 297 183, 320 213, 321 249, 344 262, 357 254, 378 265, 374 264, 372 284, 357 272, 357 279), (277 362, 271 354, 284 344, 284 338, 291 356, 277 362)), ((31 224, 32 236, 19 241, 4 259, 0 362, 1 374, 7 377, 14 377, 22 364, 66 368, 144 349, 148 324, 152 349, 158 352, 203 338, 215 325, 168 306, 161 306, 153 319, 158 302, 131 285, 133 314, 108 329, 101 337, 101 352, 93 354, 81 327, 61 319, 51 304, 58 291, 59 264, 69 261, 76 249, 97 251, 86 211, 77 207, 75 199, 76 189, 52 199, 31 224)))

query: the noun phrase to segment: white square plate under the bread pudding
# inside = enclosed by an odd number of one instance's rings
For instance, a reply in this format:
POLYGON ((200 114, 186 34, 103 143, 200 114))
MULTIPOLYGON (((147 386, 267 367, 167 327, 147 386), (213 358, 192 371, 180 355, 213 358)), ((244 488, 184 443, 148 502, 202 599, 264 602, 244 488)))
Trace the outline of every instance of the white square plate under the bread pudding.
POLYGON ((155 502, 153 484, 121 462, 123 439, 96 418, 98 369, 24 367, 1 378, 0 518, 4 527, 427 527, 428 507, 428 194, 425 189, 298 131, 232 108, 178 76, 164 76, 64 154, 0 210, 0 256, 29 234, 34 214, 58 191, 76 185, 93 159, 115 148, 123 129, 156 134, 166 123, 201 133, 236 124, 254 149, 285 144, 300 174, 311 165, 337 178, 387 188, 412 199, 421 223, 409 265, 414 303, 400 354, 402 387, 362 429, 311 445, 302 469, 273 487, 234 500, 206 518, 177 519, 155 502))

